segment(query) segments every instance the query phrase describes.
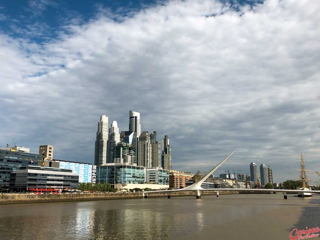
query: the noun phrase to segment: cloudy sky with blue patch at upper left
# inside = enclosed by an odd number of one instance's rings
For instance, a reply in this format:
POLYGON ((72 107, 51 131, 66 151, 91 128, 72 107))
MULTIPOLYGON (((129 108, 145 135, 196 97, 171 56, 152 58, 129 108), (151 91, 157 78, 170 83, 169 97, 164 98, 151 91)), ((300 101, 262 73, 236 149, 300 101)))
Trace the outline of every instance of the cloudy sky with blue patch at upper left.
MULTIPOLYGON (((168 135, 172 167, 320 171, 320 2, 1 1, 0 145, 93 163, 101 115, 168 135)), ((318 180, 316 174, 311 176, 318 180)))

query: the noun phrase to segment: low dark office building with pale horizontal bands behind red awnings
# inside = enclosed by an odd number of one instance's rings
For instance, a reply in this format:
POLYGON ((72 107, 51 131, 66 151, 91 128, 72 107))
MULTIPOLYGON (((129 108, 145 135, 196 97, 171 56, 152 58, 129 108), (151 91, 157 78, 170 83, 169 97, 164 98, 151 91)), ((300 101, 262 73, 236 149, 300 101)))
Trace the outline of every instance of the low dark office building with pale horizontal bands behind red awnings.
POLYGON ((10 173, 9 188, 28 190, 29 188, 78 188, 79 176, 70 169, 41 166, 21 166, 10 173))

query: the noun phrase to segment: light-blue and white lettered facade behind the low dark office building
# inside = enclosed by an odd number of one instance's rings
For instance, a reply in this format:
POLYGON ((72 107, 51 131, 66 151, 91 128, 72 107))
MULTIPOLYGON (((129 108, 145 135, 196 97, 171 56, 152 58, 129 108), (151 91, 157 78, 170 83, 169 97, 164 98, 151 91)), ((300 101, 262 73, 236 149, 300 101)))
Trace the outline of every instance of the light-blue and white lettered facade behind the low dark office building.
MULTIPOLYGON (((63 169, 70 169, 79 176, 79 183, 91 182, 92 179, 92 164, 91 163, 80 163, 72 161, 64 161, 59 159, 53 159, 58 164, 57 167, 63 169)), ((50 165, 45 165, 50 167, 50 165)))

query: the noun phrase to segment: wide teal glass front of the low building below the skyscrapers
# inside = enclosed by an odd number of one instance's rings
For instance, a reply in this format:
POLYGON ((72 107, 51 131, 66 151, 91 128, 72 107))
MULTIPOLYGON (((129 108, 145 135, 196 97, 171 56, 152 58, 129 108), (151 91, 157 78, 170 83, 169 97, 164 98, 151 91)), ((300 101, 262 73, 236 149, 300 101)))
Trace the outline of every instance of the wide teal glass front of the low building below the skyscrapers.
POLYGON ((144 184, 145 168, 133 165, 104 165, 97 166, 96 182, 110 184, 144 184))

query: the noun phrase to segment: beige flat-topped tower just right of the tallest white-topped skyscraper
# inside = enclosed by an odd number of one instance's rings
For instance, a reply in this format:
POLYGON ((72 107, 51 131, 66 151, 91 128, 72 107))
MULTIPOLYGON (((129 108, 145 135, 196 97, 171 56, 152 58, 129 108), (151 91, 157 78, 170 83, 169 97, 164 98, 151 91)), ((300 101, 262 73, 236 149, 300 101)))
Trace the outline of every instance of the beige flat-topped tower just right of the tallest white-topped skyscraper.
POLYGON ((138 142, 138 166, 151 167, 152 148, 149 132, 142 132, 138 142))

